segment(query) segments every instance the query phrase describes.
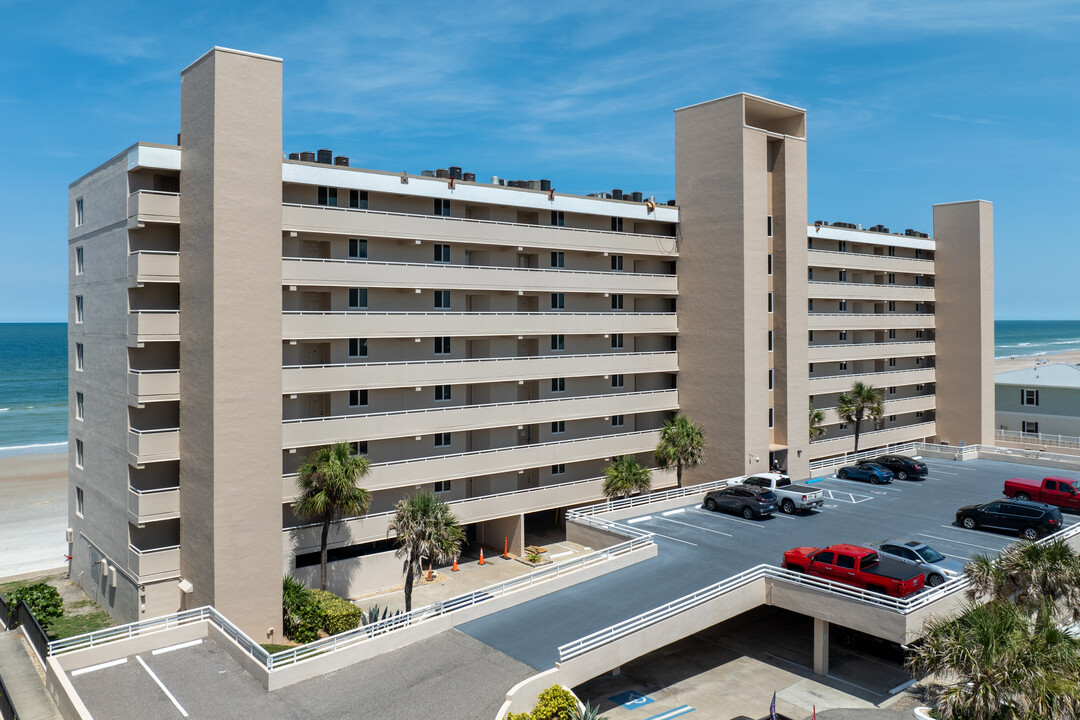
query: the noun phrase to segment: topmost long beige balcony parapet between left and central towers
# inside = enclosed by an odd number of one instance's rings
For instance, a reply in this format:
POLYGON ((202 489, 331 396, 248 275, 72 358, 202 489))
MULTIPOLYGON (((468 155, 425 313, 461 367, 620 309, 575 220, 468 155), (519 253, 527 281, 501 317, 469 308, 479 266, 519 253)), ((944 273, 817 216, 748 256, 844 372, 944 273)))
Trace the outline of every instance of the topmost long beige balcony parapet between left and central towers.
POLYGON ((608 232, 578 228, 472 220, 380 213, 323 205, 283 203, 282 227, 286 231, 397 237, 468 245, 516 245, 553 250, 616 253, 625 255, 678 256, 675 237, 608 232))

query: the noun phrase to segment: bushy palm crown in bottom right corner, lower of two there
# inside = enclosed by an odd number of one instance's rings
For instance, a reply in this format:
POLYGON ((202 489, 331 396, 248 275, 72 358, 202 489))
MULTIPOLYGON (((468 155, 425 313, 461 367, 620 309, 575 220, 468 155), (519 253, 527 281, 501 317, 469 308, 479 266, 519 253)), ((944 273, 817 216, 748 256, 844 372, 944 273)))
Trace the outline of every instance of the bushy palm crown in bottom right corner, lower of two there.
POLYGON ((933 617, 908 667, 934 675, 945 720, 1075 718, 1080 711, 1080 639, 1053 622, 1030 622, 991 600, 956 617, 933 617))

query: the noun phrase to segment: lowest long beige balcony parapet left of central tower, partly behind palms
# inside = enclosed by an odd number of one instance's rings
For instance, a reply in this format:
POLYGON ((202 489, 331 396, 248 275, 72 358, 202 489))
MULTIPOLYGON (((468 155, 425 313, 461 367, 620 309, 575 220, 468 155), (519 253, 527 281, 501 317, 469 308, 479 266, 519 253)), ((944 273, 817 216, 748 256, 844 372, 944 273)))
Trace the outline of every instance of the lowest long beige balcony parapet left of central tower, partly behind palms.
MULTIPOLYGON (((665 470, 652 471, 652 488, 660 490, 675 485, 675 472, 665 470)), ((603 477, 592 477, 571 483, 545 485, 527 490, 500 492, 480 498, 451 500, 447 504, 454 511, 458 522, 469 525, 482 522, 510 515, 534 513, 542 510, 580 505, 604 497, 603 477)), ((364 517, 335 522, 330 527, 330 547, 352 545, 356 543, 386 540, 387 527, 393 513, 379 513, 364 517)), ((284 552, 301 554, 318 551, 320 546, 321 524, 285 528, 283 531, 284 552)))

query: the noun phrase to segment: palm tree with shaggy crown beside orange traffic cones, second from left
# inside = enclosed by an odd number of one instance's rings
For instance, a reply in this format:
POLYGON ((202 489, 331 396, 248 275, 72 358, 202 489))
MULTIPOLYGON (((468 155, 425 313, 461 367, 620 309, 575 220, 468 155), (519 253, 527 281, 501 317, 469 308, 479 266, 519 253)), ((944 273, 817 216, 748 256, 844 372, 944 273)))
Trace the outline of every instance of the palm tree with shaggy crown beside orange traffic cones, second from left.
POLYGON ((446 562, 461 553, 465 533, 450 506, 433 492, 418 492, 397 501, 387 535, 397 534, 397 555, 405 558, 405 612, 413 609, 413 578, 420 558, 446 562))

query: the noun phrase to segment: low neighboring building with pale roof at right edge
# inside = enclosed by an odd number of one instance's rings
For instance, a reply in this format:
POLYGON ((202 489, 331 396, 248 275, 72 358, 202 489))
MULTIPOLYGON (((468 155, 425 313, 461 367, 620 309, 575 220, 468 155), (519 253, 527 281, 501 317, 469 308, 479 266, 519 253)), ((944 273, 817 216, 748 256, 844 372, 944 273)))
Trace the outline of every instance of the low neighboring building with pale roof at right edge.
POLYGON ((1080 437, 1080 365, 1055 363, 995 376, 999 430, 1080 437))

